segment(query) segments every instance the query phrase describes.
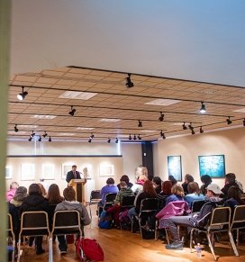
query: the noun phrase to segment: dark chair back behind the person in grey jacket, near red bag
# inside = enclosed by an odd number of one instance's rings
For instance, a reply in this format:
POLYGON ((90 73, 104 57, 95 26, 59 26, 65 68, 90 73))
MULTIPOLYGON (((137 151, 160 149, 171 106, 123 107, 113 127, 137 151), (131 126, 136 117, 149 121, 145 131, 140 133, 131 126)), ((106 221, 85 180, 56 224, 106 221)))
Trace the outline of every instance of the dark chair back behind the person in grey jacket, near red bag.
POLYGON ((83 236, 80 214, 77 210, 56 211, 53 217, 52 235, 79 234, 83 236))

